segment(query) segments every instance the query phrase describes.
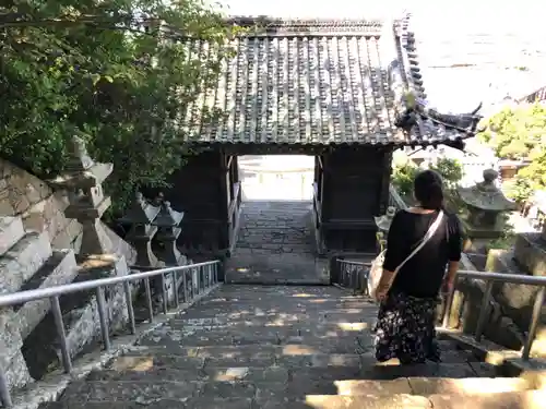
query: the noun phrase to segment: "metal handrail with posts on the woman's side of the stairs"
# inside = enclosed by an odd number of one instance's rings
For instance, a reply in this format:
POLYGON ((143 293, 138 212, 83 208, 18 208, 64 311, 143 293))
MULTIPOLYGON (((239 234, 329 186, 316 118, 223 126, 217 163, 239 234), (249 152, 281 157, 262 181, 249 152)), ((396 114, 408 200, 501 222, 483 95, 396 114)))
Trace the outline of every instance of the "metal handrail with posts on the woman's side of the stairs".
MULTIPOLYGON (((340 284, 342 286, 356 290, 363 290, 363 292, 365 293, 367 292, 367 279, 368 279, 370 263, 337 258, 336 264, 337 264, 336 268, 339 268, 337 274, 340 277, 340 284)), ((456 272, 455 275, 455 282, 453 289, 447 294, 446 298, 446 304, 443 309, 444 311, 442 316, 443 328, 449 328, 449 320, 456 291, 456 282, 463 278, 478 279, 485 281, 484 298, 482 299, 482 308, 479 309, 477 325, 474 333, 474 339, 477 342, 479 342, 483 338, 485 325, 487 323, 487 318, 489 317, 491 311, 492 287, 495 282, 520 284, 520 285, 539 287, 539 290, 535 297, 527 336, 525 338, 525 345, 523 346, 523 351, 521 354, 522 360, 529 361, 531 349, 533 347, 533 342, 536 336, 538 321, 541 318, 542 308, 544 305, 544 302, 546 301, 546 277, 525 276, 519 274, 476 272, 476 270, 459 270, 456 272)))

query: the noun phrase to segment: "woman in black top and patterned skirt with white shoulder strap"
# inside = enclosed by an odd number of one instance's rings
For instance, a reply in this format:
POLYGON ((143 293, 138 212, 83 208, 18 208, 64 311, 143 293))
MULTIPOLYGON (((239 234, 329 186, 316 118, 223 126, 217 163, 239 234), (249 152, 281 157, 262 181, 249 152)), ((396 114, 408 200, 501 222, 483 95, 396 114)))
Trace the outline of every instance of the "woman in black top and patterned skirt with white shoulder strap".
POLYGON ((443 209, 441 177, 432 170, 417 175, 414 195, 417 205, 394 216, 387 239, 376 296, 381 302, 376 325, 376 358, 380 362, 393 358, 402 364, 440 361, 435 339, 438 296, 440 289, 449 291, 453 287, 461 260, 462 231, 459 218, 443 209), (440 210, 444 216, 438 229, 394 275, 440 210))

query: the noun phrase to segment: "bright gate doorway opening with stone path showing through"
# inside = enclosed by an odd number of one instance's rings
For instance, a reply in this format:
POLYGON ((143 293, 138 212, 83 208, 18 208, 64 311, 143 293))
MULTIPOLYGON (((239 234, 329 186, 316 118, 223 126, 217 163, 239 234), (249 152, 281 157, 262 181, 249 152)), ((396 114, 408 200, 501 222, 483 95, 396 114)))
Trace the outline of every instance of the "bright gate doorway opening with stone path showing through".
POLYGON ((314 167, 314 156, 238 157, 240 227, 227 281, 329 282, 313 227, 314 167))

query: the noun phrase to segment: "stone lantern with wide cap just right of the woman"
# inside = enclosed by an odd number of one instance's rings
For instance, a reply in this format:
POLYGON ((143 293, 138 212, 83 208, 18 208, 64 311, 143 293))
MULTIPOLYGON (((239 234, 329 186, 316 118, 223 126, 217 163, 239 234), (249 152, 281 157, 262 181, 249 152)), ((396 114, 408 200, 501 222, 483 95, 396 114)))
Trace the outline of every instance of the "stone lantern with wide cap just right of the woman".
POLYGON ((459 196, 468 209, 463 220, 471 238, 496 239, 502 236, 505 226, 500 216, 515 210, 514 202, 508 200, 495 185, 499 173, 496 170, 484 170, 484 181, 472 188, 458 189, 459 196))

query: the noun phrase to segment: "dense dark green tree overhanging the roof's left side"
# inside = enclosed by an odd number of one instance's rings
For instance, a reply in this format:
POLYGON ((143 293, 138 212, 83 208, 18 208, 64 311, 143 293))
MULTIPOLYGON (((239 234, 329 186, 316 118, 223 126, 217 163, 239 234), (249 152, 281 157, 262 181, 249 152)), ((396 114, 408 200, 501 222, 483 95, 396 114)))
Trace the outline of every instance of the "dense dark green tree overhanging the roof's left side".
POLYGON ((48 178, 80 134, 114 163, 118 207, 182 164, 192 130, 180 120, 216 83, 237 31, 200 0, 11 0, 0 13, 0 155, 48 178))

